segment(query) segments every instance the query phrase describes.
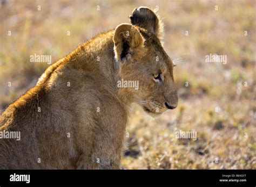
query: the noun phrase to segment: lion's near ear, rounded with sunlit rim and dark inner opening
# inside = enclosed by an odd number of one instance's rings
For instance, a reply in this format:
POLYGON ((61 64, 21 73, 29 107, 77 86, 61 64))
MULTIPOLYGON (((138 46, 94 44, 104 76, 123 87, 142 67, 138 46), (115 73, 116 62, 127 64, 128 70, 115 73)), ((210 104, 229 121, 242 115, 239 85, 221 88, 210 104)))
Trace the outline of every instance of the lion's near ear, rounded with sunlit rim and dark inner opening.
POLYGON ((118 61, 125 62, 139 53, 144 39, 131 24, 120 24, 114 30, 114 53, 118 61))

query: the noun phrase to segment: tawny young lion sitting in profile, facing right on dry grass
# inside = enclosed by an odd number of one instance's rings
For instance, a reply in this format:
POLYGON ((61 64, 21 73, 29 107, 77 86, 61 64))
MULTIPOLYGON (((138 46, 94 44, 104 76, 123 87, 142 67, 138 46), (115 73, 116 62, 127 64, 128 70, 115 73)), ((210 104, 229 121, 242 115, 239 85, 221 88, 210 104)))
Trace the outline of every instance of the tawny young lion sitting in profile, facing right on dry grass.
POLYGON ((177 107, 160 18, 140 7, 130 20, 52 64, 2 113, 0 169, 119 169, 131 103, 151 116, 177 107))

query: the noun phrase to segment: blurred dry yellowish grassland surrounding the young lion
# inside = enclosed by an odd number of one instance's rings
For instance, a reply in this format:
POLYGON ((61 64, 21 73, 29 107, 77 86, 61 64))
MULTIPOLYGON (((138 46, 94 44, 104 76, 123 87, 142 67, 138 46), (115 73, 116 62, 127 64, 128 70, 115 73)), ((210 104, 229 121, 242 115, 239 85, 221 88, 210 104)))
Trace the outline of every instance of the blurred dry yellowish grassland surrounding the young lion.
POLYGON ((124 168, 256 169, 255 1, 1 4, 0 112, 50 66, 31 63, 30 55, 56 62, 93 35, 129 23, 134 8, 159 8, 165 51, 185 60, 174 68, 179 105, 158 119, 133 107, 124 168), (206 62, 210 54, 227 55, 227 63, 206 62), (180 130, 197 132, 197 140, 178 139, 180 130))

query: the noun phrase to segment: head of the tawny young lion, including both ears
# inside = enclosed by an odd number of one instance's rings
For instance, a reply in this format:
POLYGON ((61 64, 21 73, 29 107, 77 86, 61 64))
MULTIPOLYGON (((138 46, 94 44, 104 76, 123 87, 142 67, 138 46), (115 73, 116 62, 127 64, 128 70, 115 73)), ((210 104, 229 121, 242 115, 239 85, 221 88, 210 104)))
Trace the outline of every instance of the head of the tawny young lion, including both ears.
POLYGON ((127 97, 157 116, 178 104, 173 63, 160 42, 163 26, 156 13, 146 7, 134 9, 130 19, 132 25, 118 25, 113 36, 119 76, 127 97), (139 85, 137 89, 131 88, 132 81, 139 85))

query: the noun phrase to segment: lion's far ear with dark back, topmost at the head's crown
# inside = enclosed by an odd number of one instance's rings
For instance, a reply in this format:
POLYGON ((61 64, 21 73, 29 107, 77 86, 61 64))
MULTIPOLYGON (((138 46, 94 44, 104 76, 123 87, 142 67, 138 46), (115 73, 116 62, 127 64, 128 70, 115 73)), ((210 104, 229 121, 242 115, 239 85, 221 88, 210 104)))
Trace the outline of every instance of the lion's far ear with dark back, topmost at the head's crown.
POLYGON ((162 37, 164 26, 156 12, 145 6, 140 6, 138 9, 134 9, 129 17, 132 25, 138 25, 158 38, 162 37))

